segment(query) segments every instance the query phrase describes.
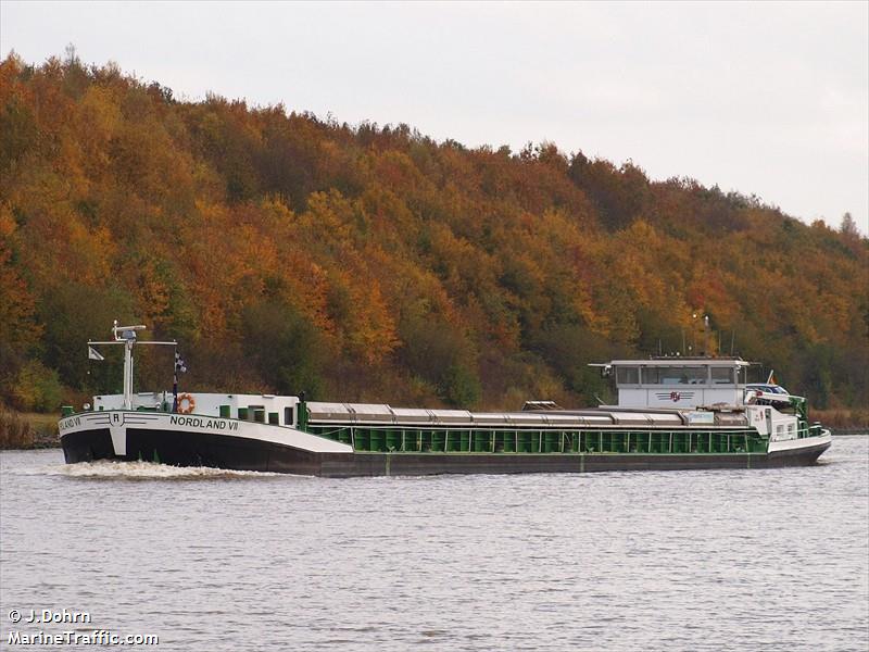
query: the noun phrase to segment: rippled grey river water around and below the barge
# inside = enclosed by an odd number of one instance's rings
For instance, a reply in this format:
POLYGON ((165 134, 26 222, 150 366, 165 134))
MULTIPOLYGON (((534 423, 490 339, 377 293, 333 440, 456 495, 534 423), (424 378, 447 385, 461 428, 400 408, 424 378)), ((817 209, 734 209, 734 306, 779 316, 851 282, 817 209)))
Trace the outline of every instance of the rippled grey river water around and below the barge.
POLYGON ((866 652, 869 438, 821 460, 337 480, 3 452, 0 648, 866 652))

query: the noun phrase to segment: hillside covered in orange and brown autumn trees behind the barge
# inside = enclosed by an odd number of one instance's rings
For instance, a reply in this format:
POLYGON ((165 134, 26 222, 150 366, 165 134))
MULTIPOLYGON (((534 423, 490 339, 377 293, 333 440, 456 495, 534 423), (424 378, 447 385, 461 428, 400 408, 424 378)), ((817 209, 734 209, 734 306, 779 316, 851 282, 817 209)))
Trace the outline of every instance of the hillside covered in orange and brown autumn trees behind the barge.
MULTIPOLYGON (((12 54, 0 177, 0 402, 22 410, 118 389, 85 346, 113 318, 177 338, 187 389, 576 405, 606 396, 589 362, 720 347, 818 406, 866 402, 869 240, 630 163, 12 54)), ((137 362, 169 387, 171 351, 137 362)))

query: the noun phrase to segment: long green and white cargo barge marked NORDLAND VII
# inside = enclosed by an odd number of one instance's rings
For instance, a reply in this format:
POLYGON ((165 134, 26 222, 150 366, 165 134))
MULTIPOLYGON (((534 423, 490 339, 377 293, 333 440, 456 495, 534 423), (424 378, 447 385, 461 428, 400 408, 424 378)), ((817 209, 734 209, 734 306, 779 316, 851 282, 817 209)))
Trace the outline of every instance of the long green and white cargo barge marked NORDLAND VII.
MULTIPOLYGON (((97 347, 124 347, 124 391, 65 406, 67 463, 149 461, 325 477, 590 473, 809 465, 830 431, 803 397, 750 386, 739 358, 650 358, 599 366, 618 404, 516 412, 307 401, 302 396, 135 392, 144 326, 117 326, 97 347)), ((176 361, 177 361, 176 354, 176 361)))

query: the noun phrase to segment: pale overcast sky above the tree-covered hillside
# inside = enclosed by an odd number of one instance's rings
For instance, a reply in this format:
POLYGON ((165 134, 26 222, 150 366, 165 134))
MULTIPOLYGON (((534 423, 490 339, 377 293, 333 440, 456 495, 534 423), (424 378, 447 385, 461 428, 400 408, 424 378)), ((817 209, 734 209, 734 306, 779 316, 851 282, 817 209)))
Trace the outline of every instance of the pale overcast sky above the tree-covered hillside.
POLYGON ((469 147, 551 140, 869 233, 869 3, 0 2, 0 52, 75 45, 207 91, 469 147))

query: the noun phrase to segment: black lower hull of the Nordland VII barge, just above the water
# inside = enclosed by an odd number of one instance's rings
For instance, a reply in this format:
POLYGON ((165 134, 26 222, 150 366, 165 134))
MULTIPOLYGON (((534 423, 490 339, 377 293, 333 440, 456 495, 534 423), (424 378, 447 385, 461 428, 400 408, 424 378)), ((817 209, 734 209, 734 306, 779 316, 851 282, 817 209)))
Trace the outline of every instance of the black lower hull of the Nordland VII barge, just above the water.
POLYGON ((815 464, 830 447, 827 436, 764 453, 322 452, 203 429, 127 427, 122 437, 118 446, 111 428, 80 428, 62 432, 61 443, 71 464, 146 461, 322 477, 771 468, 815 464))

